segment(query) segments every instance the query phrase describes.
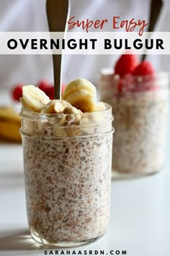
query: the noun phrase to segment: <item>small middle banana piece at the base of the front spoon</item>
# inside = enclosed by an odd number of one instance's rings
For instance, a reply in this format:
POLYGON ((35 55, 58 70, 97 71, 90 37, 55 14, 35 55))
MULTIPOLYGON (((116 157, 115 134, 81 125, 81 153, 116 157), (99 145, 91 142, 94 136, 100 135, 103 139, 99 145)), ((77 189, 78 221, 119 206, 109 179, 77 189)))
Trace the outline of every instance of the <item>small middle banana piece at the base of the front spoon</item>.
POLYGON ((63 113, 64 108, 70 108, 71 104, 67 101, 62 100, 52 100, 48 104, 46 104, 41 113, 43 114, 60 114, 63 113))

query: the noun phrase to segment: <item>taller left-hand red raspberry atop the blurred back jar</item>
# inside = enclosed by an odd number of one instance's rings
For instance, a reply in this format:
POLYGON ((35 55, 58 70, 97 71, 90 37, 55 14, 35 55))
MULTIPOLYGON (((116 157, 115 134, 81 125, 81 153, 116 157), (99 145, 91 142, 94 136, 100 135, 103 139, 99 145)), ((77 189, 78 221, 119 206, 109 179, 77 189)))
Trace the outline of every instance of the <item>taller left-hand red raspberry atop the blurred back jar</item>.
POLYGON ((138 65, 138 56, 135 54, 122 54, 115 65, 115 74, 123 77, 125 74, 133 72, 138 65))

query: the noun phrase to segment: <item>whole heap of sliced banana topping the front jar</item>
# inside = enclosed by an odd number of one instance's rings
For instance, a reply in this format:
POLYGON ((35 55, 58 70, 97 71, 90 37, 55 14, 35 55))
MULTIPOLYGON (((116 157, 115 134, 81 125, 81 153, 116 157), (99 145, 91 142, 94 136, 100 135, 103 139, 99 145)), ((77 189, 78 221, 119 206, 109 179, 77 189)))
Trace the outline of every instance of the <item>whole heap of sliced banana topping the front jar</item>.
POLYGON ((47 115, 45 119, 38 120, 35 122, 36 127, 33 122, 27 124, 29 132, 44 132, 45 135, 58 137, 81 136, 94 132, 94 127, 86 127, 86 124, 98 124, 103 120, 100 111, 106 107, 103 102, 97 101, 95 86, 85 79, 70 82, 63 92, 62 100, 50 101, 42 90, 33 85, 24 86, 22 92, 22 108, 41 114, 58 114, 51 115, 53 118, 47 115))

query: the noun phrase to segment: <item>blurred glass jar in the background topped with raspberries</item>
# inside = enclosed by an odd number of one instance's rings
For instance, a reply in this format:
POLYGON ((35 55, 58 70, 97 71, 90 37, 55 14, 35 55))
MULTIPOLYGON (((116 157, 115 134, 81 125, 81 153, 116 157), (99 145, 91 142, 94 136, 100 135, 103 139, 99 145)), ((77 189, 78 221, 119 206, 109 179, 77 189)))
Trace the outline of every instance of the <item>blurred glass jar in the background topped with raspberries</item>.
POLYGON ((120 80, 104 70, 99 90, 114 115, 113 176, 143 176, 159 171, 166 158, 169 75, 128 74, 120 80))

